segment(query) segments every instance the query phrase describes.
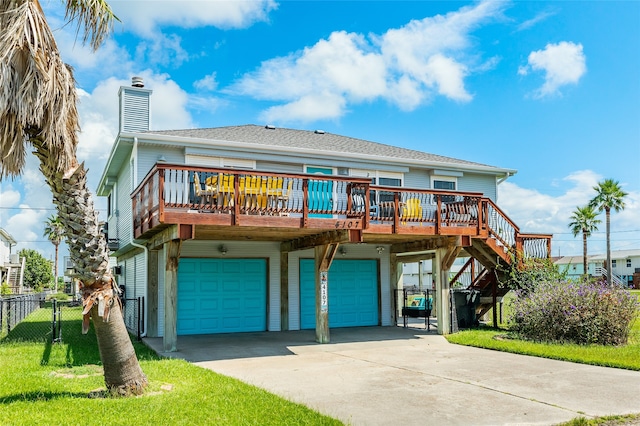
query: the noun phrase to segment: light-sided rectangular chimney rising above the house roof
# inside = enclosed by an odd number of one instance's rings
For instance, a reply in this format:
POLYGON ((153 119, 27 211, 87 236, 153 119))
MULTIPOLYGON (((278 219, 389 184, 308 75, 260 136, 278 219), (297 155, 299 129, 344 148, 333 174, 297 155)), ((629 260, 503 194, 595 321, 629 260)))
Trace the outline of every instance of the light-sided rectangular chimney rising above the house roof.
POLYGON ((120 97, 120 132, 146 132, 151 127, 149 98, 152 90, 144 88, 142 77, 131 78, 131 87, 122 86, 120 97))

